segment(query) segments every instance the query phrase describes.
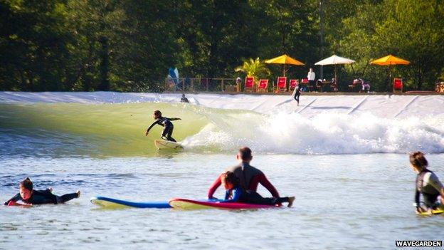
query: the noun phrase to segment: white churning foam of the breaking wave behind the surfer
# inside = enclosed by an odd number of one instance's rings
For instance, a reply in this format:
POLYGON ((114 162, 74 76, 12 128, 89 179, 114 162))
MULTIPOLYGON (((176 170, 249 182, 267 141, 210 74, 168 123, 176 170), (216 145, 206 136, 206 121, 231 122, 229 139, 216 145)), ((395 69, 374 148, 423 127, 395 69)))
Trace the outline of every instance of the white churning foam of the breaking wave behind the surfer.
POLYGON ((249 145, 257 152, 292 154, 444 152, 444 115, 427 119, 387 119, 369 113, 214 116, 210 115, 211 124, 184 140, 186 147, 229 151, 249 145))

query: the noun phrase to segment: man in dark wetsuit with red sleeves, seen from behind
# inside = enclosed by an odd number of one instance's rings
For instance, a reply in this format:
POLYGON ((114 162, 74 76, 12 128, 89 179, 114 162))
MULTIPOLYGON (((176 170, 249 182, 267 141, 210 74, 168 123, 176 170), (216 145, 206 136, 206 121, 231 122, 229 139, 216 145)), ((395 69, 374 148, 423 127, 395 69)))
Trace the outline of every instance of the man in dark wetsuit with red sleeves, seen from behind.
MULTIPOLYGON (((279 193, 273 184, 268 181, 263 172, 250 165, 251 160, 253 160, 250 148, 240 147, 236 159, 239 161, 239 164, 233 167, 228 167, 225 171, 233 172, 239 178, 240 187, 243 187, 245 190, 256 192, 258 184, 261 184, 268 189, 273 197, 279 198, 279 193)), ((221 186, 221 177, 222 175, 219 175, 208 189, 208 199, 216 199, 213 197, 213 194, 216 192, 216 189, 221 186)))

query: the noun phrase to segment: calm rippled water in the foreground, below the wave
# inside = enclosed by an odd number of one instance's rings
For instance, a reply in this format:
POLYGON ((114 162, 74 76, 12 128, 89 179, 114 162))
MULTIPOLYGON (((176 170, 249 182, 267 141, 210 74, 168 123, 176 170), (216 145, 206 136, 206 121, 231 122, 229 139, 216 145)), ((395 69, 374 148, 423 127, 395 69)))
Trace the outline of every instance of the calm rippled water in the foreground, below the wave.
MULTIPOLYGON (((428 158, 443 177, 444 155, 428 158)), ((57 194, 82 190, 80 199, 63 205, 1 207, 4 249, 41 249, 49 241, 56 249, 394 249, 395 240, 443 239, 443 217, 413 212, 415 175, 406 155, 255 155, 253 165, 297 201, 290 209, 236 212, 103 210, 89 202, 95 195, 203 198, 223 168, 236 164, 233 155, 4 157, 0 164, 3 201, 26 176, 57 194)))

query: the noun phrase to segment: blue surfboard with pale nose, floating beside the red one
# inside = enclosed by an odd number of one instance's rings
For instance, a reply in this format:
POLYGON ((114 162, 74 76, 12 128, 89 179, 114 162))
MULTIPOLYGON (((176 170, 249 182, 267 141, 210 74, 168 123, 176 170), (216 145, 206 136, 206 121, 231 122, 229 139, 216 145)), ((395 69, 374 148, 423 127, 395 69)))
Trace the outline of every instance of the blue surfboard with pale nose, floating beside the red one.
POLYGON ((129 208, 129 207, 136 207, 136 208, 157 208, 157 209, 164 209, 164 208, 171 208, 171 206, 168 204, 168 202, 129 202, 122 199, 112 199, 108 197, 92 197, 90 199, 90 202, 103 208, 107 209, 122 209, 122 208, 129 208))

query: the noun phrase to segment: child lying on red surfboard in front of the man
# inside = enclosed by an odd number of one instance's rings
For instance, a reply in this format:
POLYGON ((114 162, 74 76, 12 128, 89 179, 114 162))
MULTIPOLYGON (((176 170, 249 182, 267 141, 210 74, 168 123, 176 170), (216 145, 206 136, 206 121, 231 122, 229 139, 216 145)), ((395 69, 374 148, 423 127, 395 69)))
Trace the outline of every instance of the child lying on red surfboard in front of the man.
POLYGON ((257 192, 245 190, 240 186, 239 178, 230 171, 221 175, 222 186, 226 189, 225 199, 220 202, 242 202, 249 204, 275 205, 288 202, 287 207, 291 207, 295 197, 264 198, 257 192))

